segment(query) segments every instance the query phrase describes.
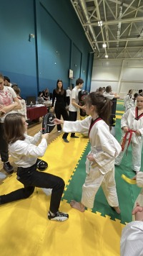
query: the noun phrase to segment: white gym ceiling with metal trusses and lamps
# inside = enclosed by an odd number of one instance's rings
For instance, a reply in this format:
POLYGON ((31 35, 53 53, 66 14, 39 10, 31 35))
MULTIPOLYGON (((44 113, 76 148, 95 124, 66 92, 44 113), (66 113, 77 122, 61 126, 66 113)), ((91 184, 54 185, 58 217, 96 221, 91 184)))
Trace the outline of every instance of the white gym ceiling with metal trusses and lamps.
POLYGON ((71 0, 71 4, 94 58, 143 58, 143 0, 71 0))

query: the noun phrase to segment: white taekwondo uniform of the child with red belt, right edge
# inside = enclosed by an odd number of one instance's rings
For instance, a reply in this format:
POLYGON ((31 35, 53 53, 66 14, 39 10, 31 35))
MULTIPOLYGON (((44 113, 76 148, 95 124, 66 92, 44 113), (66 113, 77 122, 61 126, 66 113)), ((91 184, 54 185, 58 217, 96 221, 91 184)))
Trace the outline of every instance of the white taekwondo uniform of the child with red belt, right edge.
MULTIPOLYGON (((137 114, 137 106, 128 109, 126 113, 123 114, 121 119, 121 128, 127 126, 132 131, 137 131, 142 134, 142 136, 137 136, 135 132, 132 132, 131 146, 132 146, 132 169, 134 171, 139 171, 141 168, 141 155, 142 155, 142 142, 143 142, 143 115, 137 114)), ((122 132, 122 140, 124 138, 125 132, 122 132)), ((115 160, 115 165, 120 165, 124 152, 127 150, 127 145, 129 142, 129 135, 127 134, 127 140, 124 145, 124 150, 119 154, 115 160)), ((122 144, 121 140, 121 144, 122 144)))

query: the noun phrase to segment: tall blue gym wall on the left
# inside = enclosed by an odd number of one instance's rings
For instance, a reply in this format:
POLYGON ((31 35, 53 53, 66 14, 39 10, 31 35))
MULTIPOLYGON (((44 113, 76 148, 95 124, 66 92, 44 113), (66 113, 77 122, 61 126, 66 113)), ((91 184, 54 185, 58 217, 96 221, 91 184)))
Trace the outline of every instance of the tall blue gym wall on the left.
POLYGON ((93 55, 70 0, 1 0, 0 72, 18 83, 21 95, 37 95, 62 79, 89 89, 93 55), (34 34, 29 42, 29 34, 34 34), (69 79, 69 68, 74 78, 69 79))

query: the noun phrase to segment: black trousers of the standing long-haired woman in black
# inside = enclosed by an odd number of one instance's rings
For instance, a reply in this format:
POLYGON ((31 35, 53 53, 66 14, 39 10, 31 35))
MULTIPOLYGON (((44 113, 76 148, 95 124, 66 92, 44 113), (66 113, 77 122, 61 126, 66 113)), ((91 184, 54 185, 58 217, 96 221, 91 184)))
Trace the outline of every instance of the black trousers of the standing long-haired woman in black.
MULTIPOLYGON (((56 118, 61 119, 61 116, 63 117, 64 120, 68 121, 69 120, 69 115, 66 111, 66 107, 63 104, 55 104, 55 108, 54 108, 55 114, 56 114, 56 118)), ((61 130, 61 124, 57 124, 57 130, 60 131, 61 130)), ((63 138, 66 139, 67 133, 63 134, 63 138)))

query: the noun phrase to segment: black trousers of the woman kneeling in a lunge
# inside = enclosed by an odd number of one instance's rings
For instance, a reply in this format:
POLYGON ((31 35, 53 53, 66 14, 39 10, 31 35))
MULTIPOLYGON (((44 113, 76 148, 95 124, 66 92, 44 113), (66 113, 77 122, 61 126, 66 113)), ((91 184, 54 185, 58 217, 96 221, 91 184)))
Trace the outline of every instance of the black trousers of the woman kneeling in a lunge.
POLYGON ((17 180, 24 184, 24 188, 1 196, 1 204, 28 198, 38 188, 52 188, 49 210, 55 214, 59 210, 61 196, 64 191, 64 180, 49 173, 41 173, 36 170, 36 164, 29 168, 17 169, 17 180))

